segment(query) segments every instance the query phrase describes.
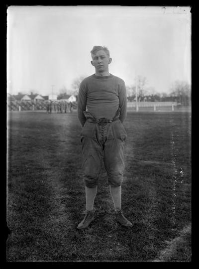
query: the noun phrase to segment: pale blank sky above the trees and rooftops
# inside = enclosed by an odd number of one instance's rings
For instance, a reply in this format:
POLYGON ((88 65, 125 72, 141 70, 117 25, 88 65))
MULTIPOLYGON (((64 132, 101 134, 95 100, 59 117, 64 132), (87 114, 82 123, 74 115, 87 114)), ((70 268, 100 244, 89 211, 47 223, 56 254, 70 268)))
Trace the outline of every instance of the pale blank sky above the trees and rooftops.
POLYGON ((169 93, 176 80, 191 84, 189 6, 9 6, 7 93, 59 94, 95 73, 93 46, 107 46, 109 73, 126 86, 169 93))

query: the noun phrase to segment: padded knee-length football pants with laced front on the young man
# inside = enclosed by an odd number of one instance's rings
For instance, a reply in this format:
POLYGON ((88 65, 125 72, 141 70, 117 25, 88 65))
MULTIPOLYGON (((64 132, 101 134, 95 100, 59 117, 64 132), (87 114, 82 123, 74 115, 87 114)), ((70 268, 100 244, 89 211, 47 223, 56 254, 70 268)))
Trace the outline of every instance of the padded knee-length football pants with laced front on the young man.
POLYGON ((107 172, 108 183, 118 187, 123 181, 124 140, 126 131, 119 119, 101 126, 86 121, 82 132, 82 169, 85 185, 98 185, 102 162, 107 172))

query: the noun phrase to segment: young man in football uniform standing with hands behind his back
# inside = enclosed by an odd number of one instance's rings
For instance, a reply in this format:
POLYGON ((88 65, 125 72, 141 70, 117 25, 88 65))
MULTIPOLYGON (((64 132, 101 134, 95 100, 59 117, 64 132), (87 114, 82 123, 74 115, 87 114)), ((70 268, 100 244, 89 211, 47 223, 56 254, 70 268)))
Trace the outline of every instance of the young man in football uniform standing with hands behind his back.
POLYGON ((83 127, 82 169, 86 185, 86 214, 78 229, 87 228, 94 220, 94 201, 102 162, 116 221, 124 227, 131 227, 132 223, 121 211, 126 138, 122 123, 126 118, 126 88, 122 79, 108 72, 112 59, 106 47, 94 46, 91 56, 96 73, 82 81, 78 95, 78 118, 83 127))

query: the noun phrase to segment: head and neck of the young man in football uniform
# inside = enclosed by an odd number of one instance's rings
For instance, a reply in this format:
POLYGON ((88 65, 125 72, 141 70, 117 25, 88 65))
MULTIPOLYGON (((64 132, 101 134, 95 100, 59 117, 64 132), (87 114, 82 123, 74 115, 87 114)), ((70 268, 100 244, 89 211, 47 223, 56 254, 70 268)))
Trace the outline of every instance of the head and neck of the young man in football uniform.
POLYGON ((112 61, 109 50, 104 46, 94 46, 91 51, 91 56, 91 64, 95 67, 96 74, 106 75, 108 73, 108 64, 112 61))

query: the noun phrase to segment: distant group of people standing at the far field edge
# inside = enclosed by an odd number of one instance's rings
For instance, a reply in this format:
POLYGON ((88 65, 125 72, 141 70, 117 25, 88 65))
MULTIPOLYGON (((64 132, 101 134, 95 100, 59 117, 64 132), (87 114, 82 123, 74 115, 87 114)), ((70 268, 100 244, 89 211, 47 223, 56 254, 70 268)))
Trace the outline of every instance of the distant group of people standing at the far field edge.
POLYGON ((71 113, 73 104, 67 101, 48 101, 46 103, 46 112, 52 113, 52 111, 56 113, 71 113))

